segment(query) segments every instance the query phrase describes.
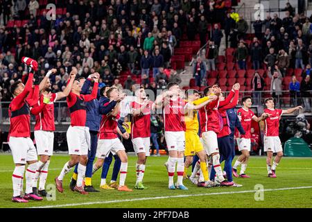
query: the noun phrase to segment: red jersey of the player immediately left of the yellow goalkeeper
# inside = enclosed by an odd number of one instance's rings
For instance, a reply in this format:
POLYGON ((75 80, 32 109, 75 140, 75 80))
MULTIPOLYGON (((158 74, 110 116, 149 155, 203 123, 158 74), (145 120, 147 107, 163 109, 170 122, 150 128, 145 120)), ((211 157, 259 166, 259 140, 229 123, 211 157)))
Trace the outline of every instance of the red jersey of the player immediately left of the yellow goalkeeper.
POLYGON ((183 99, 170 100, 164 107, 164 130, 165 131, 185 131, 184 106, 186 102, 183 99))

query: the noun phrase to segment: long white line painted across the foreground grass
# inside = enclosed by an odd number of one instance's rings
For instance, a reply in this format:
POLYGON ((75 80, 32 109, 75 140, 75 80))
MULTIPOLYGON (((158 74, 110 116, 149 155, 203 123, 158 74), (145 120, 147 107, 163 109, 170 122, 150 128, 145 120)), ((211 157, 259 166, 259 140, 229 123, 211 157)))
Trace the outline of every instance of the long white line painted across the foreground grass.
MULTIPOLYGON (((309 187, 285 187, 278 189, 263 189, 263 191, 281 191, 281 190, 291 190, 291 189, 311 189, 312 186, 309 187)), ((107 203, 123 203, 123 202, 134 202, 141 200, 159 200, 159 199, 168 199, 168 198, 186 198, 190 196, 213 196, 213 195, 223 195, 223 194, 245 194, 245 193, 254 193, 260 190, 245 190, 245 191, 227 191, 220 193, 206 193, 206 194, 185 194, 185 195, 176 195, 176 196, 155 196, 149 198, 134 198, 134 199, 125 199, 125 200, 107 200, 107 201, 97 201, 97 202, 87 202, 87 203, 69 203, 64 205, 46 205, 40 207, 26 207, 26 208, 54 208, 54 207, 73 207, 73 206, 81 206, 81 205, 94 205, 94 204, 107 204, 107 203)))

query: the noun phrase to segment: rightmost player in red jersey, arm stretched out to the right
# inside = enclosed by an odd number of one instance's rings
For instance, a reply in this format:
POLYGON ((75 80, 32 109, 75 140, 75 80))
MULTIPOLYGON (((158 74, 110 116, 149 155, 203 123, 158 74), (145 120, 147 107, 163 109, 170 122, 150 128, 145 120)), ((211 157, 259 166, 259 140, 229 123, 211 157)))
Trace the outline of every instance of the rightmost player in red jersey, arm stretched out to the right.
POLYGON ((266 109, 263 112, 268 113, 268 118, 265 119, 265 132, 264 132, 264 152, 266 152, 266 164, 268 169, 268 177, 276 178, 276 168, 281 157, 283 157, 283 148, 281 147, 281 140, 279 139, 279 120, 282 114, 290 114, 296 110, 302 109, 302 106, 297 106, 288 110, 275 109, 274 99, 272 97, 267 98, 265 101, 266 109), (277 153, 273 164, 273 153, 277 153))

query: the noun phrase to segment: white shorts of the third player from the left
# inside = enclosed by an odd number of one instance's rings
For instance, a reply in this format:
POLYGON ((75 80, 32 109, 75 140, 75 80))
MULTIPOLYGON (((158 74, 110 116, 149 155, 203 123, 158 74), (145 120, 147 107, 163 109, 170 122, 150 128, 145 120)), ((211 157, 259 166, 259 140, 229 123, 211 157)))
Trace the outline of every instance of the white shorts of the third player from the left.
POLYGON ((66 137, 69 155, 88 155, 90 147, 89 127, 69 126, 66 137))

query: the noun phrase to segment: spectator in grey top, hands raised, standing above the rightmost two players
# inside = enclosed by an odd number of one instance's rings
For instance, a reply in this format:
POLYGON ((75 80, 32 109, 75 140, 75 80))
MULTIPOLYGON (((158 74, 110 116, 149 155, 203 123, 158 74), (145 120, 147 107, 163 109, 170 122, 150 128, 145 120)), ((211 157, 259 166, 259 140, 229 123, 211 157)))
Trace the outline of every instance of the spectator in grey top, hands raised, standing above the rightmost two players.
MULTIPOLYGON (((268 77, 271 78, 271 86, 270 86, 270 93, 272 94, 273 98, 278 98, 281 96, 281 90, 282 90, 282 80, 283 77, 281 76, 281 72, 279 71, 277 65, 275 66, 275 70, 271 67, 268 67, 268 77)), ((278 107, 280 105, 279 99, 277 99, 278 107)))

